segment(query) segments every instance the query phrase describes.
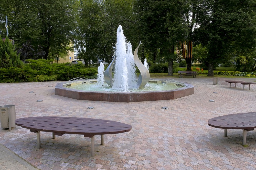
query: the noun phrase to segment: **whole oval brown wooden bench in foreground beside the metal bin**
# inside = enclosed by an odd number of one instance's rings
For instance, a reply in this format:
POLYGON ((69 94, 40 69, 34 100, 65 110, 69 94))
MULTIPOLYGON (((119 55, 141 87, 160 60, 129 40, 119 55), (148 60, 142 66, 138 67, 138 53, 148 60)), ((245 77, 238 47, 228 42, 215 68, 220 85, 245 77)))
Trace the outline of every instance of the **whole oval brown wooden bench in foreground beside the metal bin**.
POLYGON ((64 134, 76 134, 89 137, 91 138, 91 156, 94 156, 95 135, 101 135, 101 145, 103 145, 103 135, 129 132, 132 129, 131 125, 121 122, 58 116, 25 117, 16 119, 15 124, 30 129, 30 132, 36 133, 38 149, 40 148, 40 131, 52 132, 53 139, 55 135, 62 136, 64 134))

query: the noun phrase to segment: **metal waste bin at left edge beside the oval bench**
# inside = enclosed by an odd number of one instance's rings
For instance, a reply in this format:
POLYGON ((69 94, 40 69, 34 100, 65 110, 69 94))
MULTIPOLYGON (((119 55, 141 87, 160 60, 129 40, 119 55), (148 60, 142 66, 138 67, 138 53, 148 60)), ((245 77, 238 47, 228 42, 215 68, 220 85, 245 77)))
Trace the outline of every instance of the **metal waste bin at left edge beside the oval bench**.
POLYGON ((15 127, 14 121, 16 120, 15 105, 8 104, 0 106, 0 123, 2 128, 15 127))

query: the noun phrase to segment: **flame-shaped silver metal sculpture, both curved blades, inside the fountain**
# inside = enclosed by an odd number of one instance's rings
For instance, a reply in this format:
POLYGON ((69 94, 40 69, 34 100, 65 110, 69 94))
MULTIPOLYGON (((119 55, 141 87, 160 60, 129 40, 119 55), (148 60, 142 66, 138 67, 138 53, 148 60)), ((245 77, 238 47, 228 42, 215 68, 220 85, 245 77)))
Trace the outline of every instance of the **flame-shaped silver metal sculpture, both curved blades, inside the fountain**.
MULTIPOLYGON (((138 58, 138 55, 137 55, 138 48, 139 48, 140 45, 141 45, 141 42, 138 45, 138 47, 134 50, 134 53, 133 53, 133 58, 134 58, 135 65, 138 67, 138 69, 140 71, 140 75, 138 77, 138 81, 136 83, 135 88, 141 88, 141 87, 145 86, 147 84, 147 82, 149 81, 149 79, 150 79, 150 74, 149 74, 147 68, 140 61, 140 59, 138 58)), ((113 60, 109 64, 108 68, 104 72, 105 82, 111 87, 113 86, 112 69, 113 69, 114 61, 115 61, 115 57, 113 58, 113 60)))

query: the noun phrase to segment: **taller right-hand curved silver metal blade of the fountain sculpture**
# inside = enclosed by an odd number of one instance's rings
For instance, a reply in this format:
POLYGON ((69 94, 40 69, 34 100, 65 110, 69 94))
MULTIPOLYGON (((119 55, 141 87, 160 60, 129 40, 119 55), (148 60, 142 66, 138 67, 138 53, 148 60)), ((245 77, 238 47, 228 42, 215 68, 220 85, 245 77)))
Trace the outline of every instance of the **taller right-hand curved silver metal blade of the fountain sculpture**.
POLYGON ((147 84, 147 82, 150 79, 150 74, 147 70, 147 68, 144 66, 144 64, 142 64, 142 62, 140 61, 140 59, 138 58, 138 48, 140 44, 137 46, 137 48, 134 50, 133 53, 133 58, 134 58, 134 62, 136 64, 136 66, 138 67, 138 69, 140 70, 140 76, 138 77, 138 81, 137 81, 137 88, 141 88, 143 86, 145 86, 147 84))

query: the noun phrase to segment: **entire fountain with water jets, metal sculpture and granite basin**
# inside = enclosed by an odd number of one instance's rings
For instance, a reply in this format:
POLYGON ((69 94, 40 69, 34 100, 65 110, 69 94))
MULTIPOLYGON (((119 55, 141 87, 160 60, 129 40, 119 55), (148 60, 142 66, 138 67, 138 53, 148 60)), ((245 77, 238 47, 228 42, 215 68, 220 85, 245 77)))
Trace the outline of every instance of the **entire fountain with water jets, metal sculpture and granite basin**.
POLYGON ((105 71, 103 63, 100 63, 97 80, 77 77, 66 83, 58 83, 55 94, 78 100, 116 102, 168 100, 194 94, 191 84, 175 80, 150 80, 147 59, 143 64, 137 55, 140 44, 132 54, 132 45, 126 43, 122 26, 119 25, 115 55, 105 71), (138 78, 135 66, 140 71, 138 78))

